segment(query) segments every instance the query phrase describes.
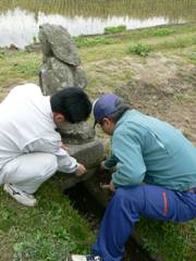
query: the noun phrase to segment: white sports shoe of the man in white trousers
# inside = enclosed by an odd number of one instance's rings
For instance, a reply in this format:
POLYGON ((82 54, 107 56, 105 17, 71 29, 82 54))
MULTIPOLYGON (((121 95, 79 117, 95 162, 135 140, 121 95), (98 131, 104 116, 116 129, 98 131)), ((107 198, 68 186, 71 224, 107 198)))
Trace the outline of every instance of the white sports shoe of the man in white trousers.
POLYGON ((24 206, 34 207, 37 202, 36 198, 33 195, 22 191, 21 189, 14 187, 11 184, 4 184, 3 189, 8 194, 10 194, 10 196, 14 198, 17 202, 24 206))

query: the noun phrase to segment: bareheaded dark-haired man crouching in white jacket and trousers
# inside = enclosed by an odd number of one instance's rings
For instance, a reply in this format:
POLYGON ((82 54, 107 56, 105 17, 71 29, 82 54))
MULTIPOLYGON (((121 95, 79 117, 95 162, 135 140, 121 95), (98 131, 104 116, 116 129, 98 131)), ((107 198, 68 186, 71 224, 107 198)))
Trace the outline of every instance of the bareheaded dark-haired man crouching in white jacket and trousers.
POLYGON ((13 88, 0 104, 0 185, 4 184, 4 190, 33 207, 33 194, 58 170, 83 175, 85 166, 63 149, 56 128, 86 121, 90 111, 81 88, 65 88, 51 97, 42 96, 35 84, 13 88))

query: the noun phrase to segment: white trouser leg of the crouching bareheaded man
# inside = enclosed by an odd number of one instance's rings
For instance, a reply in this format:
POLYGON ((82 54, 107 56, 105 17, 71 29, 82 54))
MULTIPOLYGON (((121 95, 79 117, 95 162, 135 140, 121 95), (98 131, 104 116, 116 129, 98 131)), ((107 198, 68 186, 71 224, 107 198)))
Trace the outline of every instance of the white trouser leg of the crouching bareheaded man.
POLYGON ((22 154, 8 162, 1 170, 2 184, 10 183, 19 189, 34 194, 57 170, 62 171, 62 162, 57 156, 44 152, 22 154))

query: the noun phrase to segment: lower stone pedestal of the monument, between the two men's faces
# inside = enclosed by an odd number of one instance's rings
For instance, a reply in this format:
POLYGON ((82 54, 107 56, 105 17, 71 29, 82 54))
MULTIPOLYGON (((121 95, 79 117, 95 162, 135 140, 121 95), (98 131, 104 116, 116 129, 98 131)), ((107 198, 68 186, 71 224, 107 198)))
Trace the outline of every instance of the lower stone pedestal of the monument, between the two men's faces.
POLYGON ((87 169, 87 173, 81 177, 74 174, 61 174, 65 181, 64 188, 70 188, 96 175, 99 171, 99 164, 103 160, 103 142, 95 138, 95 129, 87 122, 65 124, 59 132, 63 144, 69 148, 69 153, 87 169))

